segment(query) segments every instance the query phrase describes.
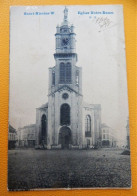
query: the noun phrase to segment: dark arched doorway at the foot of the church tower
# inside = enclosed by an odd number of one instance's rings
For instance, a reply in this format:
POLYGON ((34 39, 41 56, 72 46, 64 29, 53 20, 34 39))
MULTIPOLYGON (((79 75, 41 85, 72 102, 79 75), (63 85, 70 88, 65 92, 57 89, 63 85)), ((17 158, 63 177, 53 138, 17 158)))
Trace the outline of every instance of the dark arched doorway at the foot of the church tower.
POLYGON ((69 127, 62 127, 59 132, 59 144, 61 144, 62 149, 69 149, 69 144, 71 144, 71 130, 69 127))

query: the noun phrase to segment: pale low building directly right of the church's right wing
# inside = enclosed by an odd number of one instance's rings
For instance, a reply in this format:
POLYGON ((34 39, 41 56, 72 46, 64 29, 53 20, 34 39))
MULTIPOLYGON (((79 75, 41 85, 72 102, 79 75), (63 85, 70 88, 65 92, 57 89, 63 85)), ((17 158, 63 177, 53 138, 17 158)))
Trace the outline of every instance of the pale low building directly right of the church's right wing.
POLYGON ((101 146, 102 147, 116 147, 117 142, 114 136, 114 130, 106 124, 101 125, 101 146))

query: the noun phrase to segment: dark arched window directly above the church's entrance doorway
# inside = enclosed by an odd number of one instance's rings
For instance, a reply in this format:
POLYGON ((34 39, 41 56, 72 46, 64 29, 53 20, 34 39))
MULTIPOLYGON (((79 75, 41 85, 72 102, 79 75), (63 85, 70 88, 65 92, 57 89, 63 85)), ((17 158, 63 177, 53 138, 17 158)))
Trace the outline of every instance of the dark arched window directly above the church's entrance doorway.
POLYGON ((66 103, 60 108, 60 124, 70 125, 70 106, 66 103))

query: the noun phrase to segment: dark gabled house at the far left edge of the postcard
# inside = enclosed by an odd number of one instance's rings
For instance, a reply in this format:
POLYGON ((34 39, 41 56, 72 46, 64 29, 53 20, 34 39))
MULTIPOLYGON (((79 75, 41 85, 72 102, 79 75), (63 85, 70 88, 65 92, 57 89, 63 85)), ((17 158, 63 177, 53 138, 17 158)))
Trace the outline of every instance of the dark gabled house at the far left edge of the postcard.
POLYGON ((17 142, 16 129, 14 129, 11 125, 9 125, 8 149, 14 149, 16 147, 16 142, 17 142))

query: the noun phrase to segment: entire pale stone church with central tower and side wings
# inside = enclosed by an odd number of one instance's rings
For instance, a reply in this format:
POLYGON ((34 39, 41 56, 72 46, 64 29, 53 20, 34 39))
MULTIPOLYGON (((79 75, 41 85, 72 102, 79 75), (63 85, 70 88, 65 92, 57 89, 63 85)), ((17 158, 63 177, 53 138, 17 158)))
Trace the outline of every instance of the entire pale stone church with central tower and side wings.
POLYGON ((83 101, 82 68, 77 66, 76 34, 67 8, 55 39, 48 103, 36 109, 36 148, 94 148, 101 144, 101 105, 83 101))

